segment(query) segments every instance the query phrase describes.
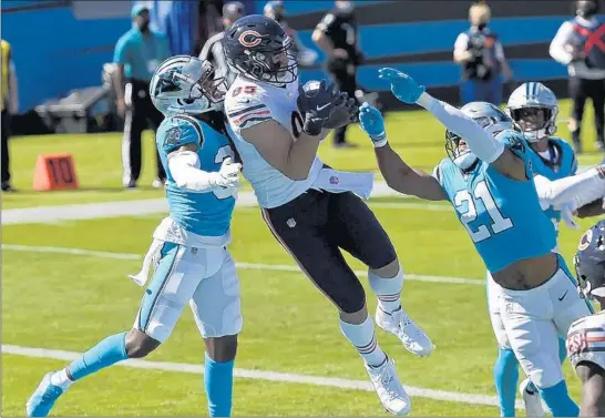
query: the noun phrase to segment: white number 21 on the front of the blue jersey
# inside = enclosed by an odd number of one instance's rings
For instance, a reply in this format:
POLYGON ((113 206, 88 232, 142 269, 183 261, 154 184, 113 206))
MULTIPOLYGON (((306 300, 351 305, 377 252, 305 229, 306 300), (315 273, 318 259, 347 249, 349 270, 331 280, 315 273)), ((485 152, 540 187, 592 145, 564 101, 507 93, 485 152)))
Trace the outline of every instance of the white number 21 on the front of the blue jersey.
POLYGON ((503 217, 500 213, 500 210, 495 205, 494 198, 492 197, 485 182, 479 182, 476 184, 473 191, 473 196, 471 196, 471 193, 468 190, 458 192, 454 196, 455 207, 460 207, 464 203, 468 204, 469 210, 461 214, 460 222, 462 222, 466 231, 469 231, 469 235, 471 235, 474 243, 488 239, 490 236, 492 236, 492 233, 495 235, 513 226, 512 221, 507 217, 503 217), (483 203, 483 206, 492 218, 490 228, 488 228, 486 225, 479 225, 476 231, 473 231, 470 225, 471 222, 476 220, 476 200, 480 200, 483 203), (490 230, 492 232, 490 232, 490 230))

